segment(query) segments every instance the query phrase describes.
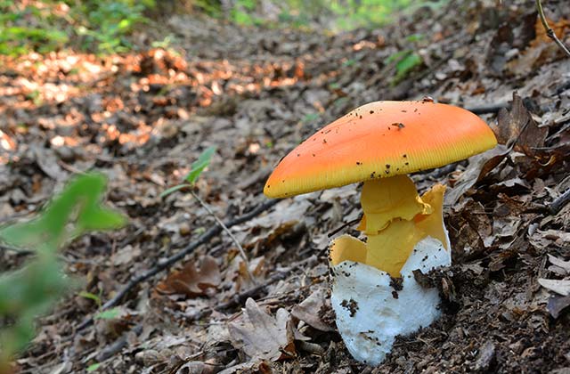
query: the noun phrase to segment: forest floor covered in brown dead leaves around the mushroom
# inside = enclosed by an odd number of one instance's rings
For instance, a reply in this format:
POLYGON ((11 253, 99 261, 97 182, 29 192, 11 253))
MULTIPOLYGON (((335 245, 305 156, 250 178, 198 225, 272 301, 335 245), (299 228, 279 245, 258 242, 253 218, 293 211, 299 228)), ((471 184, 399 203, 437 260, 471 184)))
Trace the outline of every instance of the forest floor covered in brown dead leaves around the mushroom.
MULTIPOLYGON (((552 208, 570 188, 570 59, 546 37, 533 1, 450 3, 337 36, 173 16, 150 34, 174 34, 178 52, 2 59, 3 222, 37 212, 88 170, 108 175, 107 202, 129 217, 126 228, 63 250, 83 283, 39 319, 17 371, 569 372, 570 297, 538 280, 570 274, 570 205, 552 208), (423 62, 403 71, 398 61, 413 54, 423 62), (443 316, 398 337, 386 362, 368 368, 347 353, 329 298, 328 233, 359 215, 359 186, 276 205, 262 190, 281 157, 321 126, 366 102, 425 95, 480 113, 502 145, 413 175, 420 191, 450 187, 453 265, 430 275, 443 316), (159 197, 212 145, 194 191, 224 221, 246 215, 231 230, 255 283, 190 193, 159 197), (108 302, 157 266, 93 319, 94 298, 108 302), (255 302, 243 309, 248 297, 255 302)), ((550 24, 569 42, 570 4, 551 3, 550 24)), ((0 249, 0 271, 26 256, 0 249)))

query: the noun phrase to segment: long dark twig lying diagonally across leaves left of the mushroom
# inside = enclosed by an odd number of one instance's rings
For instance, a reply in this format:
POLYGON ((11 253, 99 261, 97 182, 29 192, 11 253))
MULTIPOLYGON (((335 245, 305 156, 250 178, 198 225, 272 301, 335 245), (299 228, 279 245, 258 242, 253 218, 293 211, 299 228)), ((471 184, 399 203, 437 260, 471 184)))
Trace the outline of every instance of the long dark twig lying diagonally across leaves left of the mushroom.
MULTIPOLYGON (((256 207, 255 209, 246 213, 245 215, 241 215, 235 219, 227 221, 225 223, 225 226, 229 228, 235 226, 236 224, 243 224, 244 222, 247 222, 251 218, 255 217, 256 215, 265 212, 265 210, 269 209, 270 207, 273 207, 279 201, 280 201, 279 199, 265 201, 265 203, 261 204, 260 206, 256 207)), ((121 299, 125 297, 128 291, 133 289, 134 286, 136 286, 137 284, 141 283, 144 280, 148 280, 153 275, 162 272, 163 270, 166 270, 176 262, 183 259, 184 256, 191 254, 194 251, 194 249, 198 248, 200 245, 207 243, 209 240, 214 238, 220 232, 222 232, 222 228, 220 226, 216 225, 210 228, 207 232, 204 232, 202 235, 200 235, 197 240, 191 242, 188 246, 183 248, 175 255, 168 257, 165 261, 160 262, 159 264, 147 270, 146 272, 143 272, 142 274, 135 276, 134 278, 129 280, 128 283, 126 283, 126 286, 124 286, 122 289, 118 291, 115 297, 111 298, 104 305, 102 305, 102 310, 109 309, 112 306, 118 305, 121 299)), ((86 318, 85 321, 81 322, 81 324, 77 326, 76 332, 85 329, 85 327, 89 326, 91 323, 93 323, 93 317, 86 318)))

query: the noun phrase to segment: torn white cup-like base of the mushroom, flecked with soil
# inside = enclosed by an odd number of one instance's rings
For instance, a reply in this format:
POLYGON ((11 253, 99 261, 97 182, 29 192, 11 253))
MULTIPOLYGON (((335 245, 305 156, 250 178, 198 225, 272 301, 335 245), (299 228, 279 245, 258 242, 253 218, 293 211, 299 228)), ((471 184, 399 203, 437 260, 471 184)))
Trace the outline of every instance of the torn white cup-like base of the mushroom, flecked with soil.
POLYGON ((435 321, 440 315, 437 289, 421 287, 412 272, 419 269, 425 274, 451 264, 451 251, 428 237, 416 244, 403 265, 401 290, 390 285, 387 272, 367 264, 344 261, 334 266, 330 299, 340 335, 354 358, 378 365, 392 350, 396 336, 435 321))

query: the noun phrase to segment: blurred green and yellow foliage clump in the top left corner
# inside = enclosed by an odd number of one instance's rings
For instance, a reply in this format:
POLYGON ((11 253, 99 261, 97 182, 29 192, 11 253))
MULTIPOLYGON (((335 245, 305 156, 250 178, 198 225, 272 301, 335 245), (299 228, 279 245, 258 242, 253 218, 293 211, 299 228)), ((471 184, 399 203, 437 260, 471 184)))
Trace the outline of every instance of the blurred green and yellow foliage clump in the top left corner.
POLYGON ((72 46, 94 53, 125 52, 128 35, 147 21, 154 0, 0 0, 0 54, 46 53, 72 46))

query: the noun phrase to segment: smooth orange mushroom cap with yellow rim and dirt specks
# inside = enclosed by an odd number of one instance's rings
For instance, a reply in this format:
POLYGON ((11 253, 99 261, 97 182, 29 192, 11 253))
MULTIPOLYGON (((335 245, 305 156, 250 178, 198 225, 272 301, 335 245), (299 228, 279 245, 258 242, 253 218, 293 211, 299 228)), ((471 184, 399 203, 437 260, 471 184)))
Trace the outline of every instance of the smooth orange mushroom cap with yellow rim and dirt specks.
POLYGON ((434 102, 371 102, 309 137, 265 183, 270 198, 442 167, 497 140, 468 110, 434 102))

